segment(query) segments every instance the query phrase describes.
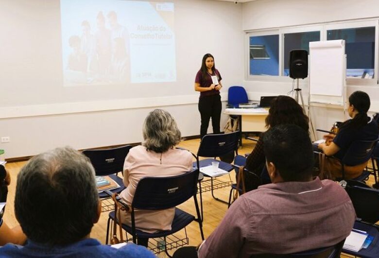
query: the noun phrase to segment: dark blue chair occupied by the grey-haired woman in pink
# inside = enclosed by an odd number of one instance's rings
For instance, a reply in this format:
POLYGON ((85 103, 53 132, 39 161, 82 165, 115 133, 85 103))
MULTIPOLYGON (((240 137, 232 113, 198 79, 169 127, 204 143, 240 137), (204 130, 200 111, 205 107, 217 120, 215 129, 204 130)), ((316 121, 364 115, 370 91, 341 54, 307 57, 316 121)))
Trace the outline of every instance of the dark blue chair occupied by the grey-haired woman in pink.
MULTIPOLYGON (((199 170, 195 169, 178 176, 142 178, 137 184, 131 207, 129 208, 126 204, 123 203, 126 210, 129 210, 131 212, 132 226, 130 227, 128 225, 122 224, 122 229, 132 235, 134 243, 137 243, 137 238, 150 239, 162 237, 166 242, 167 236, 172 235, 173 233, 185 228, 190 222, 197 221, 199 223, 201 238, 204 240, 203 226, 200 218, 199 205, 196 198, 198 177, 199 170), (197 218, 179 208, 175 208, 175 216, 172 221, 171 230, 159 231, 157 233, 146 233, 137 229, 138 224, 136 225, 134 217, 135 209, 168 209, 186 202, 191 197, 193 197, 193 200, 195 202, 197 218)), ((108 243, 110 220, 113 222, 116 221, 114 211, 109 213, 106 230, 106 243, 108 243)), ((167 244, 164 245, 164 247, 167 253, 167 244)))

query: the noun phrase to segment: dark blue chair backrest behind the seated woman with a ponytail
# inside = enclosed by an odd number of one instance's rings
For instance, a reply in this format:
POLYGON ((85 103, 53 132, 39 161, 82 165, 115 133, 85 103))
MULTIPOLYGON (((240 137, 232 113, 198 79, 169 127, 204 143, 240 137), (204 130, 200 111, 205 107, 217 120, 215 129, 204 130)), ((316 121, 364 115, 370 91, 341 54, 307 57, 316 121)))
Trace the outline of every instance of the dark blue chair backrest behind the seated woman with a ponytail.
POLYGON ((347 149, 341 162, 347 166, 356 166, 367 162, 373 153, 378 139, 372 141, 354 141, 347 149))

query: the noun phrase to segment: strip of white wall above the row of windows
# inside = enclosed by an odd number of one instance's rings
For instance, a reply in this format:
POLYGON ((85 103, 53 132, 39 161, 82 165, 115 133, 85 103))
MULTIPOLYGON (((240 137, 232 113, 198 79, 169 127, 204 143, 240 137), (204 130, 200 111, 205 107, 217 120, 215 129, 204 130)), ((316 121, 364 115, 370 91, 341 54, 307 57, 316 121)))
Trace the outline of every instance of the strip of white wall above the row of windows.
POLYGON ((256 0, 242 5, 245 31, 379 17, 377 0, 256 0))

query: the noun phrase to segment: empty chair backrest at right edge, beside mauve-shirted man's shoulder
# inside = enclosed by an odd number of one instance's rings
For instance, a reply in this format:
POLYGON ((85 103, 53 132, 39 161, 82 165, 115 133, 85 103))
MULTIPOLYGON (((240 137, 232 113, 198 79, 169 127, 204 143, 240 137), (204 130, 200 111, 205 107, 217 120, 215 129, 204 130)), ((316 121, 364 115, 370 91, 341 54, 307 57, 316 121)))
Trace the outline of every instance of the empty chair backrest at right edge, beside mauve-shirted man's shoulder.
POLYGON ((345 190, 353 203, 357 217, 370 223, 379 221, 379 190, 346 181, 345 190))

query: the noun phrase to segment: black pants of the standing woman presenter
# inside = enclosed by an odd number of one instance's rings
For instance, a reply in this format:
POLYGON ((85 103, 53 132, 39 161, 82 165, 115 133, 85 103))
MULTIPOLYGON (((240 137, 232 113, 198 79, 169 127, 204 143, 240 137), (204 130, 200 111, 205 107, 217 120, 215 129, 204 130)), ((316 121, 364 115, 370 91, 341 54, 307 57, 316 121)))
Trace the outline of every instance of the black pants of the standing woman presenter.
POLYGON ((209 119, 212 118, 213 133, 220 133, 221 96, 220 94, 199 98, 201 116, 200 139, 207 134, 209 119))

